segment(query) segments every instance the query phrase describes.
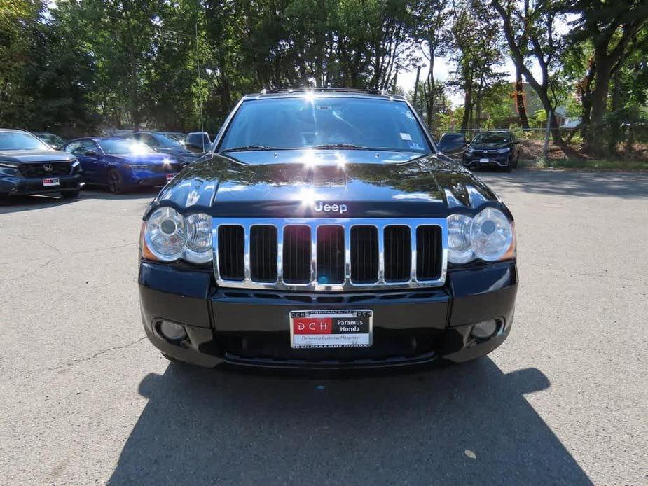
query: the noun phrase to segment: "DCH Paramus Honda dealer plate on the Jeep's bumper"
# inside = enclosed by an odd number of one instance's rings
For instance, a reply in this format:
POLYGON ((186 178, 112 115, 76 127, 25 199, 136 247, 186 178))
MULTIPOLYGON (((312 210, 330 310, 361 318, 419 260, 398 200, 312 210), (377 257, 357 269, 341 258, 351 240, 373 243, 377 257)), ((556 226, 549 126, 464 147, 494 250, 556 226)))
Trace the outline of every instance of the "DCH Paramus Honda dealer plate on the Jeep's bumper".
POLYGON ((294 349, 370 347, 372 310, 293 310, 290 346, 294 349))

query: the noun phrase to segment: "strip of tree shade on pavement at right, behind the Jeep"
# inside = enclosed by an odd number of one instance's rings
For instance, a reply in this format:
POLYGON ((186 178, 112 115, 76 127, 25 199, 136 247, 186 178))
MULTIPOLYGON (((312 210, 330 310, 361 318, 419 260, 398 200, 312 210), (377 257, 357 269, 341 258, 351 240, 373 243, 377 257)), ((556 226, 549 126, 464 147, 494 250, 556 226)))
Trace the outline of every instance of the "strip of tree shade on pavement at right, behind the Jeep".
POLYGON ((648 197, 648 174, 644 172, 585 172, 565 170, 517 170, 512 173, 477 172, 493 188, 506 185, 527 193, 577 197, 648 197))

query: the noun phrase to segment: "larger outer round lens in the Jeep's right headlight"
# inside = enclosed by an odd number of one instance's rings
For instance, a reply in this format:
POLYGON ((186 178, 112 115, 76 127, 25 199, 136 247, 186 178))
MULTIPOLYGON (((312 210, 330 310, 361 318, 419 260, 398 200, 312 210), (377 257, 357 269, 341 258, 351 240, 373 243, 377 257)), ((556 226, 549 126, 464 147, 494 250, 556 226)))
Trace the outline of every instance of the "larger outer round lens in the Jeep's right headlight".
POLYGON ((502 211, 489 207, 474 217, 470 236, 477 258, 497 261, 511 247, 513 228, 502 211))

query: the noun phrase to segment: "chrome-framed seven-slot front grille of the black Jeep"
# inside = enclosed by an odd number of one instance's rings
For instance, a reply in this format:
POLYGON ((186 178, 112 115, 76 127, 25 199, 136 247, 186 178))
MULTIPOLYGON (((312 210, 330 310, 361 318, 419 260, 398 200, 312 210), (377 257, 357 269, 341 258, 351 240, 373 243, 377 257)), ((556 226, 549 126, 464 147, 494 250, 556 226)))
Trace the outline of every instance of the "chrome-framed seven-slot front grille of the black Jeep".
POLYGON ((222 287, 340 291, 446 279, 444 218, 214 218, 212 236, 222 287))

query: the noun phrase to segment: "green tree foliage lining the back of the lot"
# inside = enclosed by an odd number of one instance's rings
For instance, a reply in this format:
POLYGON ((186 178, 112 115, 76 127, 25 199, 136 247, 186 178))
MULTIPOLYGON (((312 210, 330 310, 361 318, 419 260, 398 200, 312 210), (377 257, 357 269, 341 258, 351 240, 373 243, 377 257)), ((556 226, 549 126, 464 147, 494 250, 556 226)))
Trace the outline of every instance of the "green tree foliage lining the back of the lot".
POLYGON ((247 92, 394 92, 425 63, 416 108, 428 125, 485 127, 515 117, 515 103, 523 115, 510 60, 544 113, 579 111, 589 150, 607 137, 615 151, 632 136, 621 127, 644 119, 647 10, 644 0, 4 0, 0 125, 214 132, 247 92))

